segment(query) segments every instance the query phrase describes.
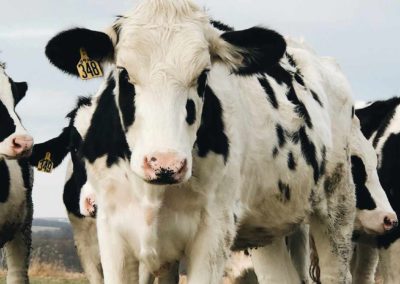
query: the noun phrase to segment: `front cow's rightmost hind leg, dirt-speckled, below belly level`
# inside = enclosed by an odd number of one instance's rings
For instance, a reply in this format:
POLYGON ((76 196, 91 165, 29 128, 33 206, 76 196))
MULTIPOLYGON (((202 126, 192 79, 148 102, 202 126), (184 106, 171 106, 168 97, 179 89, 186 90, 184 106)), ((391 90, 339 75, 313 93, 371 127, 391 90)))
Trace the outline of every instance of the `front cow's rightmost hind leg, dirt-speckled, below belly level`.
MULTIPOLYGON (((338 212, 338 211, 336 211, 338 212)), ((351 217, 351 215, 340 215, 351 217)), ((352 230, 354 219, 345 225, 344 220, 313 218, 311 234, 319 257, 321 283, 351 283, 350 259, 352 254, 352 230), (337 227, 336 224, 341 224, 337 227)))

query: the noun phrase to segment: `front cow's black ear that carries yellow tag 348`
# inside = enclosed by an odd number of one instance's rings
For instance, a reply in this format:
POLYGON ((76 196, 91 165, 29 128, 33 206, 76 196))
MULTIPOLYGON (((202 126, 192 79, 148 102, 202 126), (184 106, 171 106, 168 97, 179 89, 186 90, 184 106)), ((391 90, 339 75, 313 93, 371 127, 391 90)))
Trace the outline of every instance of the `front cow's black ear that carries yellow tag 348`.
POLYGON ((74 28, 57 34, 47 43, 46 56, 57 68, 79 76, 76 66, 81 59, 82 48, 90 59, 99 63, 114 58, 111 38, 106 33, 84 28, 74 28))

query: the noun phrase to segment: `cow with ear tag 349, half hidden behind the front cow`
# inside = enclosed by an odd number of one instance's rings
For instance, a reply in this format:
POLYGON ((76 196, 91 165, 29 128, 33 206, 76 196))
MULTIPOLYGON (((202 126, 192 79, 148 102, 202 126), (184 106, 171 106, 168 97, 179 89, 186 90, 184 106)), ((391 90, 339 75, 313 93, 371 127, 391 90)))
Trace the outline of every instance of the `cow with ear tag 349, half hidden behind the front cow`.
MULTIPOLYGON (((90 283, 98 284, 103 283, 104 280, 95 219, 96 197, 93 186, 87 180, 85 164, 79 154, 82 144, 79 129, 90 124, 93 99, 96 100, 93 97, 79 98, 75 108, 67 115, 69 124, 57 137, 36 144, 29 162, 32 166, 39 167, 41 161, 49 153, 53 168, 57 168, 69 155, 63 201, 85 275, 90 283)), ((144 267, 141 269, 140 283, 153 283, 154 277, 144 267)), ((169 277, 176 279, 177 271, 177 267, 174 267, 169 277)), ((164 282, 159 281, 159 283, 164 282)))

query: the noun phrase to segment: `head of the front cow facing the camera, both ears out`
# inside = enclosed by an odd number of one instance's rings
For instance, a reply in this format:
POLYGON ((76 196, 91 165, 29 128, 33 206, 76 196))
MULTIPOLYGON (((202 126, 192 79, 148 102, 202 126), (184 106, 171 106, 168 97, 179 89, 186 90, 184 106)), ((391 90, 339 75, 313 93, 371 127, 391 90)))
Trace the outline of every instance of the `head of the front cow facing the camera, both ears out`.
POLYGON ((119 18, 108 33, 78 28, 58 34, 46 54, 73 75, 78 74, 81 48, 91 59, 115 64, 119 76, 114 93, 131 168, 149 183, 174 184, 191 177, 192 151, 204 120, 212 124, 220 116, 215 127, 223 123, 207 78, 215 76, 218 82, 265 72, 286 50, 285 40, 274 31, 221 27, 226 30, 215 28, 190 1, 148 0, 119 18), (226 76, 217 78, 217 72, 226 76), (203 112, 207 103, 213 104, 212 113, 203 112))

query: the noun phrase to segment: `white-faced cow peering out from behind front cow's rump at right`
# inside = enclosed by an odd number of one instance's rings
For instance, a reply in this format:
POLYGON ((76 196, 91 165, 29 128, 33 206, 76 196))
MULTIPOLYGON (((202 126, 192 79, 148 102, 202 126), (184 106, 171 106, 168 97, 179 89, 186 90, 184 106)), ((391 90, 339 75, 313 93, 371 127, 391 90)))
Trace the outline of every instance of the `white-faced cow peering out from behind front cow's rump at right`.
POLYGON ((378 178, 375 150, 361 133, 357 117, 353 119, 350 145, 357 207, 354 226, 357 253, 353 259, 353 283, 375 283, 375 263, 368 261, 371 250, 375 248, 365 244, 364 240, 396 232, 398 220, 378 178))

